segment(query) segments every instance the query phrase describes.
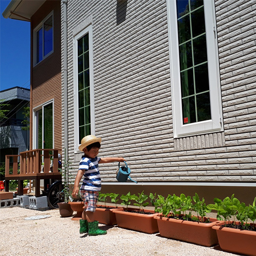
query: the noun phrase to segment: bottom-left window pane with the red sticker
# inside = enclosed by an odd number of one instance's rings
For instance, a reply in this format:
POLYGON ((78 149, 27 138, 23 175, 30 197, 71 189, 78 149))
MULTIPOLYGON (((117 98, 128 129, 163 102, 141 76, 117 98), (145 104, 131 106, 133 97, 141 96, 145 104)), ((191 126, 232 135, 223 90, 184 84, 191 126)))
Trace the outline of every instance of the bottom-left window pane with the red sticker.
POLYGON ((182 100, 183 124, 195 123, 196 109, 195 97, 188 97, 182 100))

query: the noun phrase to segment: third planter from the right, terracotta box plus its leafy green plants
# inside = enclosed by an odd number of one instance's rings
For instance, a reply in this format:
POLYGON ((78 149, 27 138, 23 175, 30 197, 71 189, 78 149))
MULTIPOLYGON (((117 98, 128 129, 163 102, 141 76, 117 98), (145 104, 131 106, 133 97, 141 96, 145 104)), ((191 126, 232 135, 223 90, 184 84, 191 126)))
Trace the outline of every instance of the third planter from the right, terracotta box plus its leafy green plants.
POLYGON ((127 195, 122 195, 120 199, 123 200, 121 204, 125 205, 126 208, 114 210, 118 227, 148 234, 158 232, 157 221, 154 219, 154 216, 158 213, 155 213, 153 210, 143 209, 149 204, 146 202, 148 196, 144 194, 144 191, 138 193, 138 196, 131 195, 128 192, 127 195), (135 200, 134 205, 139 206, 139 209, 128 207, 132 200, 135 200))

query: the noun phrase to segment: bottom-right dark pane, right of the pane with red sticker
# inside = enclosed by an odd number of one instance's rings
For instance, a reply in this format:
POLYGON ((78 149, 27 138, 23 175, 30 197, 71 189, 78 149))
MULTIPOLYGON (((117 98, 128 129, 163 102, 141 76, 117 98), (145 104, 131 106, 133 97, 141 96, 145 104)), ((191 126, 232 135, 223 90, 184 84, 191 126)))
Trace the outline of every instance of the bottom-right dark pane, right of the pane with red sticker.
POLYGON ((210 93, 197 95, 198 122, 211 119, 210 93))

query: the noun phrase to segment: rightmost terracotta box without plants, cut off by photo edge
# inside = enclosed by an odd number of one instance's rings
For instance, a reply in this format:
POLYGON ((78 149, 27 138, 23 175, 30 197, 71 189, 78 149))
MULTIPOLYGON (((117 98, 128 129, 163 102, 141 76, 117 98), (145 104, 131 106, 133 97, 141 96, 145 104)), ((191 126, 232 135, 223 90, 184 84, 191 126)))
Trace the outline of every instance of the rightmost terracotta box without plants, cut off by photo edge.
POLYGON ((217 232, 219 245, 223 251, 256 255, 256 231, 226 228, 221 227, 222 225, 224 223, 217 224, 213 229, 217 232))

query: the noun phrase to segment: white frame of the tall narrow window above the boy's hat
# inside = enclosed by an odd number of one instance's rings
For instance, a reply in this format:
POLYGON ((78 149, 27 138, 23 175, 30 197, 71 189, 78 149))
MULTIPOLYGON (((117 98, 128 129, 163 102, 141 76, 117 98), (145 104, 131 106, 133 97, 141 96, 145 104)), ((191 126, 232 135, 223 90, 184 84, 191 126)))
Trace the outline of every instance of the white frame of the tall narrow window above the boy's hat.
POLYGON ((93 78, 93 40, 92 25, 84 28, 73 38, 73 81, 74 81, 74 150, 80 152, 79 141, 79 107, 78 107, 78 65, 77 65, 77 43, 85 34, 89 34, 89 78, 90 78, 90 114, 91 114, 91 134, 95 134, 95 114, 94 114, 94 78, 93 78))

